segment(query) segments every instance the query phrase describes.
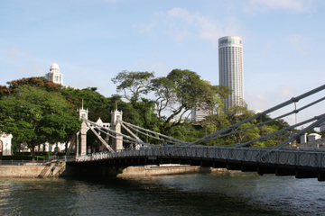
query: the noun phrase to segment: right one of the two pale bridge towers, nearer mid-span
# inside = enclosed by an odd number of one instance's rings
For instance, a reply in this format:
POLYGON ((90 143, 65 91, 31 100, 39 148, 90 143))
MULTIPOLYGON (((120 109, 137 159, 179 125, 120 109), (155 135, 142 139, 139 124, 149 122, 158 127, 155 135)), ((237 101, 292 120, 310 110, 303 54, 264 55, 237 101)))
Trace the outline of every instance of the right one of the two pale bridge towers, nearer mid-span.
MULTIPOLYGON (((111 112, 111 129, 118 133, 121 133, 122 114, 122 111, 117 111, 116 104, 116 110, 111 112)), ((114 150, 123 149, 123 137, 121 135, 115 134, 115 138, 112 138, 112 148, 114 150)))

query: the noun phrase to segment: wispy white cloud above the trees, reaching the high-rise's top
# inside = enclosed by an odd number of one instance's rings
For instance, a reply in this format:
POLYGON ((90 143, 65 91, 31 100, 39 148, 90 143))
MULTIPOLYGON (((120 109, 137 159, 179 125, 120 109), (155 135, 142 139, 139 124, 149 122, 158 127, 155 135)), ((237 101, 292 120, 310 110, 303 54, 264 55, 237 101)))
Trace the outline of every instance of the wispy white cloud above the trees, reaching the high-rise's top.
POLYGON ((240 28, 234 18, 221 23, 199 13, 191 14, 188 10, 175 7, 167 12, 153 14, 150 23, 135 24, 141 32, 151 35, 168 35, 173 40, 209 40, 218 44, 218 38, 237 34, 240 28))

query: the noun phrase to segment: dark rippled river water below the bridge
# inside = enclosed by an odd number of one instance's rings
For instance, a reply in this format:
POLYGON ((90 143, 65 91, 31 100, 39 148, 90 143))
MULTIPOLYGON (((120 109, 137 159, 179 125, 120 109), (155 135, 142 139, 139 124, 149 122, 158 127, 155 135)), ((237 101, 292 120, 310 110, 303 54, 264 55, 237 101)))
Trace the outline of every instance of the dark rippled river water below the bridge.
POLYGON ((254 173, 0 178, 0 215, 323 215, 325 182, 254 173))

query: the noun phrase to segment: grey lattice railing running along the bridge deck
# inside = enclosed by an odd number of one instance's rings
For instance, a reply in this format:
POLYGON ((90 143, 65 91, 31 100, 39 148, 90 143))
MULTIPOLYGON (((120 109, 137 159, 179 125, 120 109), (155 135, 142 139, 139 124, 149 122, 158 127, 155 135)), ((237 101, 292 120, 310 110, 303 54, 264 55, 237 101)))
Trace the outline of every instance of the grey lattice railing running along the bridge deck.
POLYGON ((207 146, 126 148, 115 152, 99 152, 76 157, 76 161, 94 161, 122 157, 200 157, 264 164, 325 167, 324 151, 313 151, 311 149, 274 150, 271 148, 221 148, 207 146))

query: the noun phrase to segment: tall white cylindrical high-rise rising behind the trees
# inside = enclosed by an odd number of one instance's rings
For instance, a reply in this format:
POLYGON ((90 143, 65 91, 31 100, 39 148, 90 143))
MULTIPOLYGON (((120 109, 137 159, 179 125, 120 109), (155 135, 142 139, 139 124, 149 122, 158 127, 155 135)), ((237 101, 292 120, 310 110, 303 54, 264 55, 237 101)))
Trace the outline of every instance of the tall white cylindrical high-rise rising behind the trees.
POLYGON ((228 86, 232 93, 224 100, 225 109, 244 105, 243 40, 237 36, 218 40, 219 85, 228 86))

